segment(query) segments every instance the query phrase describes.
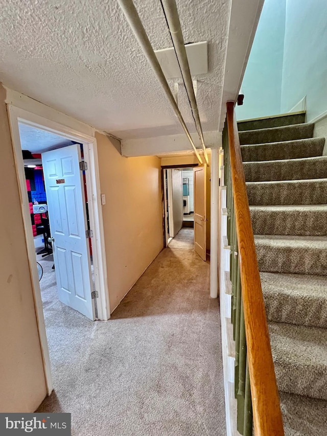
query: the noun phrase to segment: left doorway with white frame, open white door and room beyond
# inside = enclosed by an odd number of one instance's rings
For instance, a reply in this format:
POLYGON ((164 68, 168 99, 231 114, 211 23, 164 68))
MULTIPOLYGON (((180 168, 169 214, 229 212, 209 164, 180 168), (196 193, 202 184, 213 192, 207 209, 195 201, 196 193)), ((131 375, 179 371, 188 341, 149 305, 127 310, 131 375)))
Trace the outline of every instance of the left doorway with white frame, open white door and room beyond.
POLYGON ((57 351, 73 326, 110 317, 97 144, 23 109, 8 112, 50 395, 51 366, 63 364, 57 351))

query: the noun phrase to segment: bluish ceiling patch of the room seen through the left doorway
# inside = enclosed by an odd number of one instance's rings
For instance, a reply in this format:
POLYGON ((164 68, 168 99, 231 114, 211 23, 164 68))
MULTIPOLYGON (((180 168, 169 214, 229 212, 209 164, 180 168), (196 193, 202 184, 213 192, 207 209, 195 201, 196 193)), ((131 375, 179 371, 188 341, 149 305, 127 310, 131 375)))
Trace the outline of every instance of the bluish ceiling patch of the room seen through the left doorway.
POLYGON ((72 141, 63 136, 18 123, 20 146, 22 150, 29 150, 31 153, 43 153, 54 148, 71 145, 72 141))

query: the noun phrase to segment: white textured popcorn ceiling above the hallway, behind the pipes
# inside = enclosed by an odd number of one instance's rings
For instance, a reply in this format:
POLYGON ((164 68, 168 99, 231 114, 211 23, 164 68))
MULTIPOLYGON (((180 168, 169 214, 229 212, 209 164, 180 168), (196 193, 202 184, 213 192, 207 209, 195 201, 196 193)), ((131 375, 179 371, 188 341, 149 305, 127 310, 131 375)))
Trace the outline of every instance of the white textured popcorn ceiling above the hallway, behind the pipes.
MULTIPOLYGON (((204 131, 218 130, 231 0, 179 0, 185 43, 208 41, 197 77, 204 131)), ((159 0, 134 2, 153 48, 171 47, 159 0)), ((0 80, 123 139, 181 133, 115 0, 0 0, 0 80)), ((173 89, 173 80, 169 80, 173 89)), ((179 106, 195 131, 185 90, 179 106)))

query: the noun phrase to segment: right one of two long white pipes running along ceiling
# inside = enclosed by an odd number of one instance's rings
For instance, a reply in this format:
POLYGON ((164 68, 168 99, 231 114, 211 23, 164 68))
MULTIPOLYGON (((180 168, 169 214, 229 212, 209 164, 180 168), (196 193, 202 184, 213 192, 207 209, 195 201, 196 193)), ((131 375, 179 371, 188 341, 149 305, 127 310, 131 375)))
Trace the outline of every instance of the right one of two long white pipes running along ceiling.
POLYGON ((180 20, 178 16, 177 5, 175 0, 160 0, 160 2, 161 2, 162 9, 164 10, 165 13, 167 25, 176 52, 176 57, 183 78, 183 82, 185 85, 186 93, 188 94, 189 103, 193 114, 193 119, 195 122, 197 132, 200 137, 201 146, 205 157, 205 162, 208 165, 209 164, 208 155, 204 145, 204 137, 203 137, 203 131, 202 131, 201 121, 199 117, 199 110, 194 94, 189 60, 185 50, 185 43, 184 43, 183 33, 182 33, 180 20))

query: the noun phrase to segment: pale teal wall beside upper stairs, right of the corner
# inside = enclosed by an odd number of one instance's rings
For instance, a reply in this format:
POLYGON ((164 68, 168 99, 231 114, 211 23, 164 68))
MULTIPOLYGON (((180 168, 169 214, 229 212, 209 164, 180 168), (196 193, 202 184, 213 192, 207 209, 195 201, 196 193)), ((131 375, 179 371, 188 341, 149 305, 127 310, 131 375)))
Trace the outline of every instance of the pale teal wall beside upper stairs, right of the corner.
POLYGON ((287 0, 281 109, 307 96, 307 121, 327 110, 326 0, 287 0))

